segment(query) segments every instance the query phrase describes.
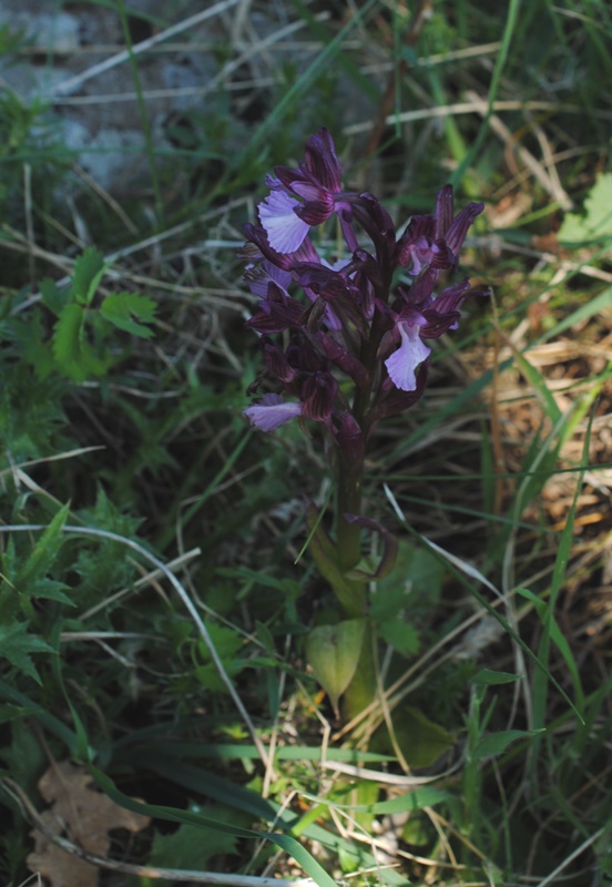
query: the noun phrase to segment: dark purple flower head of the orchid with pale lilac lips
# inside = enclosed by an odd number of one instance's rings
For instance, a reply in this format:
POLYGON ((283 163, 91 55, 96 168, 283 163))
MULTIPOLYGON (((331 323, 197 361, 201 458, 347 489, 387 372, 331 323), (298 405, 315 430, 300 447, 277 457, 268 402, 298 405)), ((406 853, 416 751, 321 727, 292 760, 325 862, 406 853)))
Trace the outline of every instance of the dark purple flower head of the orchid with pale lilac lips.
POLYGON ((312 419, 338 447, 356 439, 358 429, 365 446, 379 418, 422 395, 428 339, 455 329, 465 299, 486 292, 467 279, 435 292, 440 275, 458 265, 483 205, 470 203, 455 214, 452 187, 445 185, 435 212, 414 216, 398 236, 376 197, 344 190, 325 129, 308 140, 297 169, 277 166, 266 182, 271 192, 257 207, 258 223, 245 226, 246 277, 259 298, 248 325, 262 335, 268 375, 294 399, 266 394, 245 415, 265 431, 295 417, 312 419), (346 247, 334 259, 310 239, 310 228, 332 216, 346 247), (398 274, 402 283, 394 288, 398 274), (279 334, 289 336, 284 348, 271 339, 279 334), (348 377, 353 394, 337 376, 348 377))

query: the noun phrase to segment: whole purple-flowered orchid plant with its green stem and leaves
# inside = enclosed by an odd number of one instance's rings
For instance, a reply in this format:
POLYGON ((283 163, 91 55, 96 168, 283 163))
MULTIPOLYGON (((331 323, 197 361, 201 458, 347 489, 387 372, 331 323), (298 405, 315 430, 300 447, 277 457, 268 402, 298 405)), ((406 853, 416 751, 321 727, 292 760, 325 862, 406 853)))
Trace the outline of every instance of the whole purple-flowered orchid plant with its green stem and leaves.
POLYGON ((297 169, 277 166, 256 224, 245 226, 245 278, 259 299, 247 322, 259 334, 268 390, 244 410, 253 426, 274 431, 298 419, 317 422, 333 455, 335 532, 328 534, 307 506, 310 551, 338 601, 338 622, 313 630, 307 655, 337 707, 354 716, 373 700, 374 641, 367 620, 367 583, 392 567, 390 533, 361 514, 365 456, 373 429, 421 397, 429 370, 429 339, 457 328, 467 297, 484 294, 467 278, 436 293, 453 271, 466 234, 483 204, 455 214, 445 185, 431 215, 412 216, 399 233, 369 193, 345 191, 330 133, 306 143, 297 169), (314 228, 336 220, 336 252, 314 228), (340 249, 338 252, 338 245, 340 249), (379 531, 384 554, 376 570, 361 568, 364 529, 379 531))

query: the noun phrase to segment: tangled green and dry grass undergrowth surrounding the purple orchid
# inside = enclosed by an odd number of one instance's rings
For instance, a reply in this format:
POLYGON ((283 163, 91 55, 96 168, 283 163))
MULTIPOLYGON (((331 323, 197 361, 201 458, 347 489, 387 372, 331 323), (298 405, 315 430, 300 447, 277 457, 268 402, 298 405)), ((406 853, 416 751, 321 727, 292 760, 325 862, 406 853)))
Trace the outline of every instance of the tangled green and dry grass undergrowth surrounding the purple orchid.
MULTIPOLYGON (((41 135, 41 99, 0 103, 1 776, 41 806, 51 762, 91 762, 112 797, 155 816, 116 845, 143 865, 604 885, 610 230, 559 232, 570 213, 589 228, 609 172, 610 13, 461 0, 417 30, 428 4, 218 7, 215 82, 182 112, 181 139, 152 136, 132 193, 70 166, 61 129, 41 135), (294 564, 300 491, 323 502, 326 466, 294 429, 271 447, 239 415, 257 359, 241 224, 265 172, 320 125, 398 221, 451 177, 484 200, 466 264, 496 290, 442 340, 422 408, 370 455, 369 513, 400 537, 406 581, 376 601, 379 692, 354 724, 304 664, 328 589, 294 564), (101 275, 80 303, 92 247, 101 275), (155 313, 109 322, 105 300, 125 293, 155 313), (99 373, 58 359, 70 304, 72 345, 99 373), (137 335, 143 319, 153 336, 137 335), (392 752, 376 746, 381 723, 392 752), (419 730, 440 756, 407 771, 419 730)), ((163 14, 156 33, 184 23, 163 14)), ((136 40, 133 70, 144 58, 136 40)), ((30 825, 14 795, 0 799, 17 885, 30 825)))

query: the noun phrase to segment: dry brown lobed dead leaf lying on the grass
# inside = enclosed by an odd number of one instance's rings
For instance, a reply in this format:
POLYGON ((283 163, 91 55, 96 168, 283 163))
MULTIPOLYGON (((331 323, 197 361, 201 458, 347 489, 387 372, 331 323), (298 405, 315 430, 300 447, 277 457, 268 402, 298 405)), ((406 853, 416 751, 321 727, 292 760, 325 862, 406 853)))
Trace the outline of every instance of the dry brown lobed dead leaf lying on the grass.
MULTIPOLYGON (((115 828, 140 832, 151 820, 149 816, 119 807, 93 788, 92 782, 83 767, 70 761, 49 767, 38 784, 40 794, 51 805, 42 819, 55 835, 105 857, 110 848, 109 832, 115 828)), ((52 887, 96 887, 95 866, 71 856, 38 829, 32 837, 34 852, 27 859, 30 871, 40 873, 52 887)))

